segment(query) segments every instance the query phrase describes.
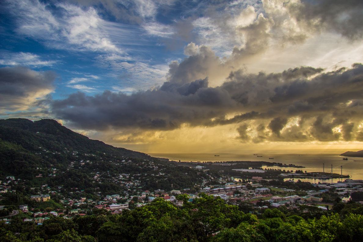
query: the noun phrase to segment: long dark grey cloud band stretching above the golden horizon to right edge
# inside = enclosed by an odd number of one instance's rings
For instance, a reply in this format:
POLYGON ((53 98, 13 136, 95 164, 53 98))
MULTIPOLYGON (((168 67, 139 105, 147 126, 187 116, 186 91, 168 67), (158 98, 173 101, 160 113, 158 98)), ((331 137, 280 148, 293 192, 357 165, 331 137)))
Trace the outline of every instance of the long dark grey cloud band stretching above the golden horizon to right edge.
POLYGON ((208 87, 207 78, 189 83, 174 79, 158 90, 131 95, 105 91, 87 96, 78 92, 53 101, 52 112, 74 126, 93 130, 173 130, 183 123, 240 123, 237 131, 241 139, 247 140, 247 133, 254 130, 257 136, 250 140, 255 143, 268 139, 354 140, 358 132, 356 123, 363 117, 363 109, 356 108, 362 103, 362 93, 360 64, 328 73, 312 67, 271 74, 235 71, 220 87, 208 87), (231 113, 239 114, 227 118, 231 113), (287 127, 290 118, 298 121, 287 127), (248 124, 254 120, 262 123, 248 124))

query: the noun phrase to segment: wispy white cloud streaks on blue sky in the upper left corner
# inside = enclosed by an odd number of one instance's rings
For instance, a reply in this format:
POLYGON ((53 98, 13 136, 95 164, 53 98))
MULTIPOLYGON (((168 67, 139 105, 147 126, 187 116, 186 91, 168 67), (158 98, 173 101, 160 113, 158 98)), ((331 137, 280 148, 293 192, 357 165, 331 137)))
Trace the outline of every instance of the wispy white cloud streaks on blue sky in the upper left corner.
POLYGON ((9 1, 9 11, 17 17, 17 32, 45 42, 52 48, 122 53, 103 26, 107 21, 90 7, 57 3, 58 13, 39 1, 9 1))

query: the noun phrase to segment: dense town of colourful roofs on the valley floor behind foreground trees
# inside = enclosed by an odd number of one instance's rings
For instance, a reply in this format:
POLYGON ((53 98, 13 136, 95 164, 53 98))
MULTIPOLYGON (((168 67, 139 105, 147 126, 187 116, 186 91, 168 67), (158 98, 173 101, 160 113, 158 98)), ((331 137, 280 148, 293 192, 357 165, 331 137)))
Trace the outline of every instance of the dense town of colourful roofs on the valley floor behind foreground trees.
MULTIPOLYGON (((131 160, 121 161, 121 163, 131 162, 131 160)), ((74 165, 75 163, 71 163, 67 169, 73 168, 74 165)), ((82 162, 79 165, 83 165, 82 162)), ((249 204, 248 212, 260 213, 262 210, 268 208, 285 206, 287 209, 298 209, 301 205, 309 205, 314 206, 314 208, 326 210, 333 205, 333 202, 328 197, 335 196, 335 200, 349 201, 351 193, 363 191, 363 180, 312 184, 314 187, 313 190, 300 189, 298 186, 295 186, 295 189, 289 189, 286 186, 262 185, 268 181, 260 176, 253 176, 251 179, 243 181, 237 177, 223 175, 216 178, 206 173, 207 171, 201 171, 200 167, 193 169, 199 172, 199 174, 203 173, 206 178, 200 184, 195 184, 192 188, 178 190, 143 190, 140 184, 143 183, 143 179, 148 179, 145 177, 156 176, 160 177, 160 179, 166 179, 168 176, 166 173, 162 173, 163 169, 159 169, 158 165, 155 165, 152 161, 144 165, 155 172, 152 174, 122 173, 116 177, 109 177, 112 182, 125 188, 122 194, 106 194, 106 196, 103 196, 100 189, 96 188, 94 190, 94 196, 89 198, 89 194, 86 194, 84 189, 74 187, 70 188, 70 192, 67 192, 62 185, 52 187, 48 184, 42 184, 39 188, 30 188, 30 193, 34 194, 29 196, 29 200, 33 201, 31 204, 3 205, 0 206, 0 209, 8 208, 8 210, 19 211, 23 221, 33 221, 41 225, 42 222, 50 219, 52 216, 74 218, 92 214, 121 214, 125 210, 144 206, 156 198, 162 198, 176 206, 182 206, 183 201, 178 199, 178 195, 180 194, 187 195, 189 201, 193 201, 193 199, 199 197, 200 193, 218 196, 228 204, 249 204), (205 186, 208 181, 214 179, 218 180, 218 185, 205 186), (45 206, 39 206, 40 204, 44 204, 45 206)), ((53 174, 56 174, 57 169, 53 171, 53 174)), ((91 173, 94 183, 101 183, 101 178, 104 175, 110 176, 109 173, 91 173)), ((294 183, 290 181, 289 183, 294 186, 298 182, 294 183)), ((9 197, 9 194, 19 194, 20 191, 16 188, 20 186, 23 189, 26 188, 24 181, 18 179, 16 176, 7 176, 4 181, 0 181, 0 184, 0 201, 9 197)), ((11 216, 4 217, 2 220, 5 223, 11 223, 11 216)))

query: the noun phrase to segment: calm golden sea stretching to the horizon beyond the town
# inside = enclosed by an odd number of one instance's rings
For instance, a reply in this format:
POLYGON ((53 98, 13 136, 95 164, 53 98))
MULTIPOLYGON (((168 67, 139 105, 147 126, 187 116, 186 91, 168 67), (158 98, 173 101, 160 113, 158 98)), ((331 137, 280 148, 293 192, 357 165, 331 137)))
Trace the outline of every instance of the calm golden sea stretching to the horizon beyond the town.
MULTIPOLYGON (((343 160, 343 156, 339 155, 316 155, 316 154, 269 154, 258 153, 259 156, 253 154, 231 154, 231 153, 219 153, 219 154, 207 154, 207 153, 191 153, 191 154, 166 154, 166 153, 150 153, 149 155, 154 157, 167 158, 169 160, 176 161, 269 161, 282 164, 294 164, 302 165, 305 168, 279 168, 289 170, 303 170, 307 172, 322 172, 323 164, 325 172, 331 172, 333 165, 333 173, 340 174, 340 166, 342 166, 343 175, 349 175, 350 179, 362 179, 363 180, 363 157, 348 157, 348 160, 343 160), (219 155, 219 156, 215 156, 219 155), (273 158, 273 159, 269 159, 273 158)), ((275 167, 278 168, 278 167, 275 167)), ((308 179, 304 181, 310 181, 312 183, 318 183, 321 180, 308 179)), ((337 179, 325 180, 325 182, 336 182, 337 179)))

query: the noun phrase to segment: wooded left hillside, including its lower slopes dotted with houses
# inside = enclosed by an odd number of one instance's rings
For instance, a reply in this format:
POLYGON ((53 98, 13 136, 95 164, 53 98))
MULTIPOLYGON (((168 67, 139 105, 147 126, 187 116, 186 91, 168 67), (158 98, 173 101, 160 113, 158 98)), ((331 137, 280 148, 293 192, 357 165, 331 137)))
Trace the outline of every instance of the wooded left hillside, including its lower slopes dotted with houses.
POLYGON ((206 178, 189 167, 175 169, 175 165, 144 153, 91 140, 50 119, 0 120, 0 160, 0 180, 6 176, 21 179, 8 184, 16 193, 5 193, 2 205, 34 205, 29 197, 40 194, 44 184, 62 194, 73 194, 77 188, 87 198, 95 198, 97 193, 123 194, 129 188, 115 179, 125 173, 129 180, 139 181, 140 189, 151 191, 193 188, 206 178), (97 180, 95 175, 99 175, 97 180))

